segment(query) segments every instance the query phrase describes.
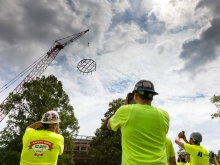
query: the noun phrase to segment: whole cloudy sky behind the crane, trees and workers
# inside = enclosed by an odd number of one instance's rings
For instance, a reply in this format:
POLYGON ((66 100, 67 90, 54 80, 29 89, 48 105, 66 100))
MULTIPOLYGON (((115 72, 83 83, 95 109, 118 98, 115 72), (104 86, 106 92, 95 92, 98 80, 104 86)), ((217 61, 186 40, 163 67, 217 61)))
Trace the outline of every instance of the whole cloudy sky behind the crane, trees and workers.
POLYGON ((210 98, 220 92, 219 8, 219 0, 0 0, 0 87, 55 40, 89 29, 43 73, 62 81, 79 135, 93 136, 108 103, 146 79, 159 93, 153 105, 170 114, 171 140, 183 130, 188 137, 199 131, 202 145, 217 152, 220 125, 210 117, 217 111, 210 98), (83 59, 96 62, 92 75, 77 71, 83 59))

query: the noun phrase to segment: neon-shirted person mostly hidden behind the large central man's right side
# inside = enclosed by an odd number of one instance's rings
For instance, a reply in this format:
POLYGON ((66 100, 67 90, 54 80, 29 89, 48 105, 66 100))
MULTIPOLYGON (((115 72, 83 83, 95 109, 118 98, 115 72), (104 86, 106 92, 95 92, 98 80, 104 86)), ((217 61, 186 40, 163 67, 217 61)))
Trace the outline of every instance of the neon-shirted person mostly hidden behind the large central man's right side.
POLYGON ((170 138, 166 137, 166 154, 168 165, 176 165, 175 150, 170 138))

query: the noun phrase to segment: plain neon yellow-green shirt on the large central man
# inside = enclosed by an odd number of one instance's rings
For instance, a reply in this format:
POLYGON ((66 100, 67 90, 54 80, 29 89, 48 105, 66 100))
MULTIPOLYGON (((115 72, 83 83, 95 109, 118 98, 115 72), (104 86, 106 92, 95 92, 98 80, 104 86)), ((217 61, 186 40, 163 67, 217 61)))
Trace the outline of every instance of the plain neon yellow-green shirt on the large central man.
POLYGON ((110 119, 113 131, 121 129, 122 165, 166 165, 169 115, 146 104, 121 106, 110 119))

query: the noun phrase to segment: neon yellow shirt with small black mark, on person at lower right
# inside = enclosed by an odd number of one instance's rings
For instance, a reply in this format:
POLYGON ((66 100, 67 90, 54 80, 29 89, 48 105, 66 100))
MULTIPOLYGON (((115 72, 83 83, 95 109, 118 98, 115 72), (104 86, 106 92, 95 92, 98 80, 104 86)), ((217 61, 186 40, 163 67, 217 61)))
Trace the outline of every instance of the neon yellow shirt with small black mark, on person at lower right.
POLYGON ((184 148, 190 154, 191 165, 209 165, 209 153, 204 147, 184 143, 184 148))

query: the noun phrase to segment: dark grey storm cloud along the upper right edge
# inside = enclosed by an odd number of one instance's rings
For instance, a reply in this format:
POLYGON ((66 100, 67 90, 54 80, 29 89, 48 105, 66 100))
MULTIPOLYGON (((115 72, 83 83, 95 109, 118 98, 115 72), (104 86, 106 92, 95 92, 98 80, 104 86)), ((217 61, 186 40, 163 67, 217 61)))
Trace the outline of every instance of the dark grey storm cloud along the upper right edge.
POLYGON ((193 38, 182 44, 180 58, 185 61, 184 70, 197 72, 204 69, 207 63, 218 58, 217 48, 220 46, 220 1, 201 0, 196 10, 199 8, 209 8, 213 12, 210 21, 211 26, 200 34, 199 38, 193 38))

